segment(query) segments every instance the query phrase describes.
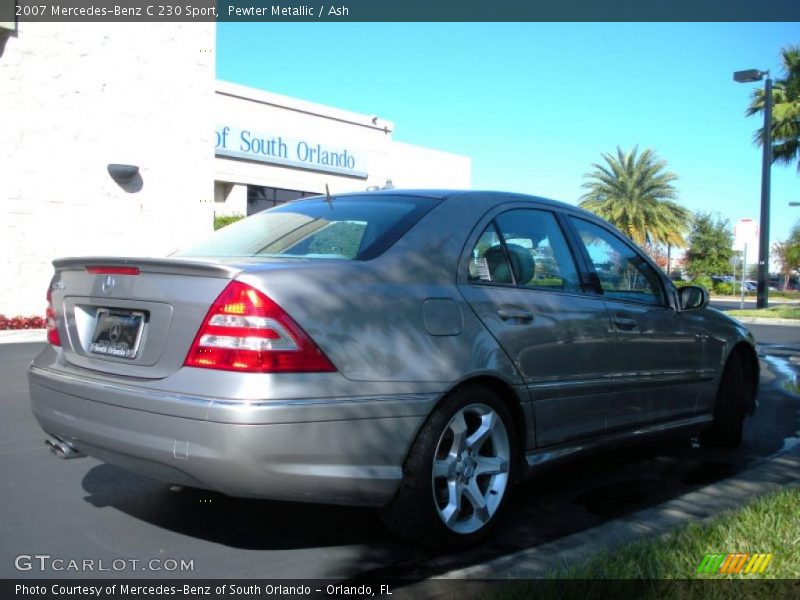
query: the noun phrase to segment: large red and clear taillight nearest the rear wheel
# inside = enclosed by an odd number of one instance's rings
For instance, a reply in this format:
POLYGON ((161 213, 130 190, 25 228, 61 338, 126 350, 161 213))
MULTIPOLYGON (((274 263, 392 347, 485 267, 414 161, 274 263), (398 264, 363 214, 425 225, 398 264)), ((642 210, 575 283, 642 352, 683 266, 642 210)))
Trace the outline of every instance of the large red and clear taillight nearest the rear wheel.
POLYGON ((239 281, 228 284, 214 301, 184 364, 254 373, 336 370, 280 306, 239 281))

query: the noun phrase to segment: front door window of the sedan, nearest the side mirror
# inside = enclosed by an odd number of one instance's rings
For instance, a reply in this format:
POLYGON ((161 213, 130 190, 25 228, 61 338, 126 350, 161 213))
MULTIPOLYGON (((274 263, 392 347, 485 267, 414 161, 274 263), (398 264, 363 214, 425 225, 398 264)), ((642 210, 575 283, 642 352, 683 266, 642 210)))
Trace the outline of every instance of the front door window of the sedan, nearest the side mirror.
POLYGON ((644 257, 602 227, 583 219, 572 222, 605 296, 664 306, 658 274, 644 257))

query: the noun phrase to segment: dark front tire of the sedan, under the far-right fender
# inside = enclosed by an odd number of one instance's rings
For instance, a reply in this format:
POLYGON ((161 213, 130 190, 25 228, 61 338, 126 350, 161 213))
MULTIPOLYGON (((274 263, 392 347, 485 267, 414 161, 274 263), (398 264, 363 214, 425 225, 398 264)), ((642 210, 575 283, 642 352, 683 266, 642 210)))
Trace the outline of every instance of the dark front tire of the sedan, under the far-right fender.
POLYGON ((736 448, 742 443, 747 388, 742 355, 728 357, 714 404, 714 423, 702 435, 709 446, 736 448))

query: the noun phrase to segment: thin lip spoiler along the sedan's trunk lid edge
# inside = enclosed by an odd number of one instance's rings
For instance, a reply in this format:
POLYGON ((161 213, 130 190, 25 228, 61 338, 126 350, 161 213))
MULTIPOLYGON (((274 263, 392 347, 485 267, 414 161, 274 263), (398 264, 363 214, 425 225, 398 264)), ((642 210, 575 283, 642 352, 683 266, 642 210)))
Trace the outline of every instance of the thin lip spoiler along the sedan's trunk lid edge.
POLYGON ((53 261, 56 271, 83 271, 90 266, 138 267, 142 273, 165 273, 233 279, 240 267, 195 258, 126 258, 119 256, 81 256, 53 261))

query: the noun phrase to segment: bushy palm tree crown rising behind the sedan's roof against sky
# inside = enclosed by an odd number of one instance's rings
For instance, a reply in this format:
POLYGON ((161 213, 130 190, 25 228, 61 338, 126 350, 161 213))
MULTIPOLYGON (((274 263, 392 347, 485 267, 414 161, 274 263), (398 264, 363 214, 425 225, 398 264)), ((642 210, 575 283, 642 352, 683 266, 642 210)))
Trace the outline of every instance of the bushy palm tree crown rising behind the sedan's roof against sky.
POLYGON ((666 169, 667 163, 646 149, 637 156, 638 147, 617 155, 603 154, 605 165, 593 164, 594 171, 584 175, 580 206, 625 233, 640 246, 666 244, 685 246, 684 231, 691 213, 681 206, 672 182, 678 176, 666 169))

